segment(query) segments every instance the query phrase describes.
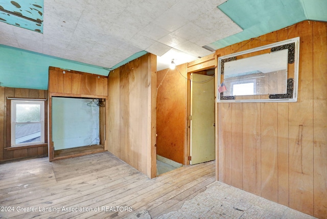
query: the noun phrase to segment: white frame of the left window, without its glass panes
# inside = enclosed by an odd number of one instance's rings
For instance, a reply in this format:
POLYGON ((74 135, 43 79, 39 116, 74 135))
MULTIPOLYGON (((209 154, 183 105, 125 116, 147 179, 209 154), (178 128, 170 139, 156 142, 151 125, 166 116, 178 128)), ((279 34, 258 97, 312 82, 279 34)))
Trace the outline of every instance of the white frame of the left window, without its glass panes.
POLYGON ((44 144, 44 101, 43 100, 11 100, 11 146, 28 146, 28 145, 37 145, 44 144), (40 105, 40 121, 38 122, 16 122, 16 105, 17 104, 37 104, 40 105), (28 142, 28 143, 18 143, 16 144, 16 125, 17 124, 32 124, 40 123, 41 124, 41 137, 38 142, 28 142))

